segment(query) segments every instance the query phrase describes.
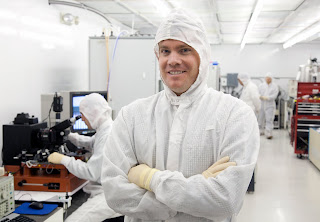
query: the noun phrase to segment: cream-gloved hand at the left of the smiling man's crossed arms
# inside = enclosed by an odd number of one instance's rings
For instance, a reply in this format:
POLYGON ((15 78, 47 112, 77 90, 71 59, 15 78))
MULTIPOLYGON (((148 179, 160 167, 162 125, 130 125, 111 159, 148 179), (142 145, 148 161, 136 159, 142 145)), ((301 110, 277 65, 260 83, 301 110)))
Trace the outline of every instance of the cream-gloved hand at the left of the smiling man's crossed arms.
POLYGON ((153 174, 157 171, 159 170, 151 168, 146 164, 140 164, 129 170, 128 179, 131 183, 134 183, 143 189, 152 191, 150 189, 150 182, 153 174))

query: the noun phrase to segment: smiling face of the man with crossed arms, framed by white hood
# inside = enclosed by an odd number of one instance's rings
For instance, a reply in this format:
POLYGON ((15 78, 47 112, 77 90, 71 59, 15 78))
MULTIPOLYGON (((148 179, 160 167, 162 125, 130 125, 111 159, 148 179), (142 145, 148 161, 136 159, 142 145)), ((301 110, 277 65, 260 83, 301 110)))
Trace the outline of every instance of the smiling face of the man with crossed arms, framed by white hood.
POLYGON ((200 57, 186 43, 172 39, 161 41, 158 59, 161 77, 176 95, 186 92, 196 81, 200 57))

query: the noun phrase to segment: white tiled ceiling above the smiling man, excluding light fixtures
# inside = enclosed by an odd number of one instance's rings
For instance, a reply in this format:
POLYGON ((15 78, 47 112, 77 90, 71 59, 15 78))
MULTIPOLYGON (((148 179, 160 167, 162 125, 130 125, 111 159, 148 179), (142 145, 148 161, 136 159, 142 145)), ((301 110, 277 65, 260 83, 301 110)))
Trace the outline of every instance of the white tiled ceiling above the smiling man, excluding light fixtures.
MULTIPOLYGON (((210 43, 240 44, 257 0, 159 0, 173 8, 180 6, 197 14, 203 21, 210 43), (215 7, 215 8, 213 8, 215 7)), ((110 19, 154 34, 164 13, 153 0, 78 0, 103 12, 110 19), (121 6, 123 3, 125 6, 121 6), (150 22, 146 21, 146 19, 150 22)), ((248 44, 284 43, 320 20, 320 0, 265 0, 262 11, 250 33, 248 44)), ((319 38, 310 40, 312 43, 319 38)))

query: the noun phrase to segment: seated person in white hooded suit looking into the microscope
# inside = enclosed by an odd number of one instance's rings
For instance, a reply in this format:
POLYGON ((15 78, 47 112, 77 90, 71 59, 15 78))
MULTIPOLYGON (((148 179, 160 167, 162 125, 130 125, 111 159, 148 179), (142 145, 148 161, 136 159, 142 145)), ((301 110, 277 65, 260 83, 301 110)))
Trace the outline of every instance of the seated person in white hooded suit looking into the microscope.
POLYGON ((96 134, 88 137, 71 133, 68 139, 76 146, 92 149, 92 156, 86 163, 60 153, 53 153, 48 157, 49 162, 63 164, 75 176, 91 181, 83 188, 85 192, 90 194, 89 199, 67 217, 66 221, 96 222, 119 217, 121 215, 108 207, 100 180, 102 150, 113 123, 111 108, 107 101, 97 93, 85 96, 80 102, 79 108, 83 121, 88 128, 95 129, 96 134))

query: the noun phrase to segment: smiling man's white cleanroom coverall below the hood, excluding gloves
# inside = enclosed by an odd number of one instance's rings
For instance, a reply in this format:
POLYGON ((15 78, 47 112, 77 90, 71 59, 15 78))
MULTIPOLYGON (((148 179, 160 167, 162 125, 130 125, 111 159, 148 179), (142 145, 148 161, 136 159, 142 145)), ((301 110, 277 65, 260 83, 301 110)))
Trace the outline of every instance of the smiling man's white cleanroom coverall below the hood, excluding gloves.
POLYGON ((176 99, 162 91, 120 111, 104 152, 106 199, 131 222, 231 221, 258 156, 256 117, 242 101, 213 89, 185 103, 176 99), (205 179, 201 173, 224 156, 237 166, 205 179), (154 193, 127 179, 141 163, 161 170, 151 182, 154 193))

